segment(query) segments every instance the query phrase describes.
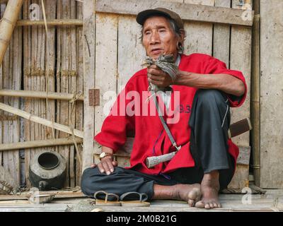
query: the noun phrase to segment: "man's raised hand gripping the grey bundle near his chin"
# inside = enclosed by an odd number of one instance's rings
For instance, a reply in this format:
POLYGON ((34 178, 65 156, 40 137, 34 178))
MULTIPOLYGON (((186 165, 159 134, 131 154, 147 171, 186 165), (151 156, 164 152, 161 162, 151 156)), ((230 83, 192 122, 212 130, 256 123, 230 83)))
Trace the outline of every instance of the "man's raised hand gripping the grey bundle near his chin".
POLYGON ((147 69, 147 76, 150 83, 159 87, 167 87, 169 85, 173 85, 171 76, 159 69, 156 65, 149 66, 149 68, 147 69))

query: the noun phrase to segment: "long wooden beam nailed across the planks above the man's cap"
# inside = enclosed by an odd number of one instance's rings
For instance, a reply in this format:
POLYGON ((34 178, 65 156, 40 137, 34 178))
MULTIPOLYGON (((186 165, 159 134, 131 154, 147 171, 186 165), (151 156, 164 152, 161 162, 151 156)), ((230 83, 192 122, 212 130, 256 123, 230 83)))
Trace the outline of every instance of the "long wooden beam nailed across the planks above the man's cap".
MULTIPOLYGON (((151 0, 97 0, 96 11, 100 13, 118 13, 127 15, 137 15, 140 11, 149 8, 163 7, 178 12, 183 20, 221 23, 231 25, 252 26, 252 20, 243 20, 242 15, 245 12, 236 8, 224 8, 215 6, 202 6, 199 4, 183 4, 167 1, 151 0)), ((252 18, 253 18, 253 11, 252 18)))

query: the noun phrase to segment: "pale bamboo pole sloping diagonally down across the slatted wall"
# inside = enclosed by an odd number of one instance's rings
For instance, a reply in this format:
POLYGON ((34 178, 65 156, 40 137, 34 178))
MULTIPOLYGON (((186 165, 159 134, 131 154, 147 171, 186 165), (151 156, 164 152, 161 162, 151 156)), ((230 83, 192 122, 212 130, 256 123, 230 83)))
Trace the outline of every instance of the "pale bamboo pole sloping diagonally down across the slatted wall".
MULTIPOLYGON (((15 107, 11 107, 9 105, 5 105, 3 103, 0 103, 0 109, 4 110, 5 112, 9 112, 11 114, 16 114, 19 117, 23 117, 24 119, 28 119, 28 120, 36 122, 38 124, 49 126, 51 128, 57 129, 59 131, 63 131, 65 133, 72 134, 72 131, 69 128, 69 126, 64 126, 64 125, 59 124, 57 122, 52 123, 52 121, 50 121, 50 120, 42 119, 42 118, 37 117, 37 116, 30 114, 28 112, 24 112, 20 109, 17 109, 15 107)), ((83 138, 83 131, 79 131, 78 129, 74 129, 74 135, 79 136, 80 138, 83 138)))

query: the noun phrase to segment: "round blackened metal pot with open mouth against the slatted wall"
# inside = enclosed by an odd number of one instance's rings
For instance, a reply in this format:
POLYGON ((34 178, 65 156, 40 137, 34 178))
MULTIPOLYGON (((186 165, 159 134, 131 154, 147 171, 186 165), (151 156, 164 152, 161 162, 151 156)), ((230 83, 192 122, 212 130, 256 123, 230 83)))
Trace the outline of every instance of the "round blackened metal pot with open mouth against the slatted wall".
POLYGON ((62 189, 67 162, 59 153, 37 153, 30 161, 30 183, 40 191, 62 189))

